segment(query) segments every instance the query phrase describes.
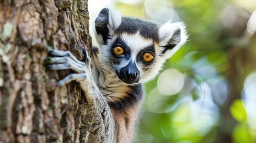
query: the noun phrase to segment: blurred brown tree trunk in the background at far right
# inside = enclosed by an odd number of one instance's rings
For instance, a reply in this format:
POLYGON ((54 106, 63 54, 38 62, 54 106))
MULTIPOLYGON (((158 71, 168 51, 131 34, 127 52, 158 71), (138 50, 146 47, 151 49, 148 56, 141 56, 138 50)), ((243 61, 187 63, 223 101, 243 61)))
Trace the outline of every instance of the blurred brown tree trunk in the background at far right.
MULTIPOLYGON (((230 29, 224 29, 221 35, 222 39, 235 39, 227 45, 229 70, 224 74, 229 83, 229 98, 220 108, 223 113, 221 125, 217 128, 217 138, 215 142, 232 142, 232 132, 238 122, 230 113, 230 106, 236 99, 240 99, 243 84, 246 76, 252 71, 255 71, 256 57, 255 45, 256 35, 252 37, 246 36, 246 27, 250 18, 249 13, 235 8, 236 20, 230 29), (243 13, 241 13, 241 11, 243 13), (251 41, 251 42, 250 42, 251 41)), ((229 11, 227 13, 233 13, 229 11)), ((230 15, 230 14, 227 14, 230 15)))

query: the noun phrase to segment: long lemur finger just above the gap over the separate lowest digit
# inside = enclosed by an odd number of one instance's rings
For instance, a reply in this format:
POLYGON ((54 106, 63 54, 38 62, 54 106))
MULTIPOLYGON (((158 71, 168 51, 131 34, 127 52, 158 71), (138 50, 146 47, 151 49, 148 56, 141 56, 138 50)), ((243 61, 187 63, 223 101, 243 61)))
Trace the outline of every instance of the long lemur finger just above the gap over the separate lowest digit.
POLYGON ((71 69, 73 71, 76 71, 77 73, 85 73, 85 70, 77 64, 72 63, 61 63, 61 64, 48 64, 47 67, 51 70, 67 70, 71 69))

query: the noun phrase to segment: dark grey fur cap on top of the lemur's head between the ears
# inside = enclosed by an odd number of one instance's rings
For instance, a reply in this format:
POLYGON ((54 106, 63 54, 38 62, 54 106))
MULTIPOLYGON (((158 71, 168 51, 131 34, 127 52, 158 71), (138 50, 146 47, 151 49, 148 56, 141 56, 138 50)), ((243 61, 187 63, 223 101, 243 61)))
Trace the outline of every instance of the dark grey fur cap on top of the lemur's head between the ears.
POLYGON ((139 18, 122 17, 121 24, 115 32, 134 34, 140 31, 140 35, 144 38, 151 38, 153 41, 159 42, 158 29, 158 24, 150 21, 141 20, 139 18))

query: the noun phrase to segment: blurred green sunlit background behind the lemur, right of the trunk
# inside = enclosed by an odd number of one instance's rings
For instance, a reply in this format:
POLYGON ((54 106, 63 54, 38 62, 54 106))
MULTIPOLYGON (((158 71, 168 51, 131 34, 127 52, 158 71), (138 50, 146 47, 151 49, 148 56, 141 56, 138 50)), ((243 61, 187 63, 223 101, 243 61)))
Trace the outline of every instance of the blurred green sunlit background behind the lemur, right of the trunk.
POLYGON ((256 142, 255 0, 91 0, 88 7, 91 29, 103 7, 187 25, 189 41, 145 84, 134 142, 256 142))

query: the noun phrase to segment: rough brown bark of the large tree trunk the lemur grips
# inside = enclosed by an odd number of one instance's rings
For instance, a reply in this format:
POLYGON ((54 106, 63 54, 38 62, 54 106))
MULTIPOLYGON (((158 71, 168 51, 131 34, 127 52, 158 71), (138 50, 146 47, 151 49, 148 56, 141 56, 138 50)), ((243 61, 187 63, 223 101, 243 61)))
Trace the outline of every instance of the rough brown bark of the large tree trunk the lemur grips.
POLYGON ((92 116, 69 71, 50 71, 49 48, 78 59, 91 48, 87 0, 0 1, 0 142, 87 142, 92 116), (57 74, 58 73, 58 74, 57 74))

